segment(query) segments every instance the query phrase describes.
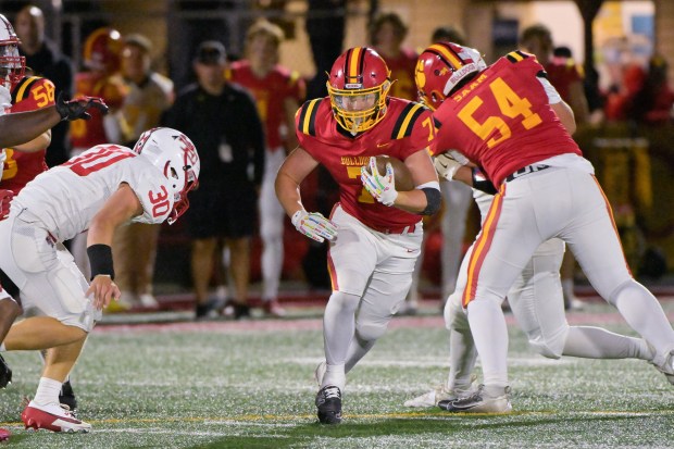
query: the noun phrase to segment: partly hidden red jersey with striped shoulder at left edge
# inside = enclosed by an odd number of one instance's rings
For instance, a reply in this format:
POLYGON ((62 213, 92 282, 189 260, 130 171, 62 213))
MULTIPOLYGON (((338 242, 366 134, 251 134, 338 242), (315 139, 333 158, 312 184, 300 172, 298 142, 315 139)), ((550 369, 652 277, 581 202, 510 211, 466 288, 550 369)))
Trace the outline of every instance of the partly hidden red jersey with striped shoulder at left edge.
MULTIPOLYGON (((37 111, 53 103, 53 83, 39 76, 24 77, 12 88, 12 108, 9 112, 37 111)), ((46 150, 47 148, 26 153, 5 148, 7 160, 2 169, 0 187, 18 194, 28 182, 47 171, 46 150)))

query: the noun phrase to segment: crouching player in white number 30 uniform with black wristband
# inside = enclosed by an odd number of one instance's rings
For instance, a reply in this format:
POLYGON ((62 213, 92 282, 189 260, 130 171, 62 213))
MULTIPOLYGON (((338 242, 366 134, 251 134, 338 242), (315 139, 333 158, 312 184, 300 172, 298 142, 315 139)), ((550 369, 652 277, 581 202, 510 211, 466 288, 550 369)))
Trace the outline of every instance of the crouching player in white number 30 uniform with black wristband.
POLYGON ((49 351, 37 392, 22 413, 26 427, 88 432, 59 403, 61 384, 88 333, 110 301, 120 298, 110 245, 127 222, 175 222, 198 183, 191 140, 153 128, 134 149, 99 145, 37 176, 0 222, 0 269, 16 284, 30 317, 14 324, 0 350, 49 351), (88 229, 90 285, 62 241, 88 229))

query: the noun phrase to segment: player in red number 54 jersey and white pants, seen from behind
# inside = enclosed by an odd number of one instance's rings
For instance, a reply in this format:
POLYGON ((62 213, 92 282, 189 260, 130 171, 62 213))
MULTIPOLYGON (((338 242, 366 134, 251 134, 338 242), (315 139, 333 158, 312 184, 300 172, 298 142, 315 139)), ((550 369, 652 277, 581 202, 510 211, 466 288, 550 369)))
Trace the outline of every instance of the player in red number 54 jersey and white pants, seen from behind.
MULTIPOLYGON (((544 67, 522 51, 487 67, 479 52, 453 43, 440 58, 451 75, 441 91, 426 93, 437 104, 432 150, 459 149, 498 188, 467 262, 462 297, 484 385, 444 408, 510 410, 500 305, 534 251, 553 237, 569 245, 595 289, 641 335, 650 362, 674 384, 674 330, 658 300, 632 277, 592 165, 571 138, 573 112, 544 67)), ((472 184, 463 175, 461 180, 472 184)))

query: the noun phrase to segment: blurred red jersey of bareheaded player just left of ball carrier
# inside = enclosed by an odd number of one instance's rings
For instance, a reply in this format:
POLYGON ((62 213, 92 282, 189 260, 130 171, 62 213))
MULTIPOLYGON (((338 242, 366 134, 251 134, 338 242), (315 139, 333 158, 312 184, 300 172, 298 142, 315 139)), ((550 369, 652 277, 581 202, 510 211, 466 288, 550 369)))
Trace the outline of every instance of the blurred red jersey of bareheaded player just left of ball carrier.
POLYGON ((236 61, 232 63, 226 75, 229 80, 250 90, 255 99, 258 113, 265 127, 266 148, 270 150, 280 148, 283 145, 282 128, 286 126, 284 103, 288 98, 299 103, 305 96, 304 80, 300 74, 276 65, 266 76, 259 78, 253 74, 250 62, 236 61))

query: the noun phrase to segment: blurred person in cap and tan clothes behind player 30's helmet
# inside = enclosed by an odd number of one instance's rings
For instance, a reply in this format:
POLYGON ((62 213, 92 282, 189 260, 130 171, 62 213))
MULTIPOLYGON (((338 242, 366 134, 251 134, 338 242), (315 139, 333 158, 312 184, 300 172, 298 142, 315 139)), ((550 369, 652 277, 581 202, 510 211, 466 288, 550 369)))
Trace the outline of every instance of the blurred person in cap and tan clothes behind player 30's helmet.
MULTIPOLYGON (((173 82, 152 70, 151 58, 152 42, 146 36, 124 37, 122 76, 128 93, 116 119, 122 141, 129 148, 146 129, 159 125, 161 114, 174 98, 173 82)), ((152 295, 152 276, 160 228, 158 224, 130 223, 115 232, 112 248, 122 309, 158 305, 152 295)))

